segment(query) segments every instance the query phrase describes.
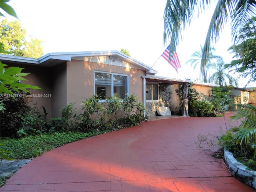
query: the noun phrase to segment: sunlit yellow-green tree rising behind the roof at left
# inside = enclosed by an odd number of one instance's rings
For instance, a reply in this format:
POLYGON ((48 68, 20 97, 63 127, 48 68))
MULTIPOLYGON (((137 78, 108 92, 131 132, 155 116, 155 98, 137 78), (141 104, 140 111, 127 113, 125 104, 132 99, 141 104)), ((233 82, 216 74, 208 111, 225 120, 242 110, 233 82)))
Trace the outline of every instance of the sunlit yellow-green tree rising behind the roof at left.
POLYGON ((2 49, 14 56, 40 58, 43 55, 42 40, 32 38, 26 41, 26 29, 21 28, 18 20, 0 21, 0 43, 2 49))

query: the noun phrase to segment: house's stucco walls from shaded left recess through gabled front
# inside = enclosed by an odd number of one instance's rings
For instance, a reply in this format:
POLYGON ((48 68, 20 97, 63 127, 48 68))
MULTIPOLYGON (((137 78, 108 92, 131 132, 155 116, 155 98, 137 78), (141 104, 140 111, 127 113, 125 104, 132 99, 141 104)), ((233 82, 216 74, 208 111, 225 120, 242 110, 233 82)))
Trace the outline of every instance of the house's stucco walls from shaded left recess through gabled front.
MULTIPOLYGON (((2 60, 1 60, 2 61, 2 60)), ((143 102, 143 79, 146 69, 122 59, 113 61, 108 56, 74 57, 70 61, 58 64, 26 64, 5 62, 8 67, 18 66, 22 72, 29 73, 28 81, 23 83, 36 85, 41 90, 32 90, 31 100, 41 112, 46 108, 48 120, 61 116, 60 109, 70 102, 76 102, 77 113, 82 113, 82 101, 92 97, 94 92, 94 72, 106 72, 128 76, 128 94, 135 94, 143 102)), ((54 62, 54 61, 53 61, 54 62)))

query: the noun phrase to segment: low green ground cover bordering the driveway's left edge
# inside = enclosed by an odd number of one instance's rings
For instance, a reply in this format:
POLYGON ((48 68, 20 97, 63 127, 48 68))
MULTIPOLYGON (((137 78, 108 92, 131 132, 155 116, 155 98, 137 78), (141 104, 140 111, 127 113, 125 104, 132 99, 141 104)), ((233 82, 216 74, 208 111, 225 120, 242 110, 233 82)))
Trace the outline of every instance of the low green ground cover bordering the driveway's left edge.
POLYGON ((95 131, 84 132, 61 132, 53 134, 41 134, 36 136, 26 136, 19 139, 1 138, 2 150, 8 150, 8 156, 13 159, 30 159, 42 155, 44 152, 68 144, 77 140, 102 134, 104 132, 95 131))

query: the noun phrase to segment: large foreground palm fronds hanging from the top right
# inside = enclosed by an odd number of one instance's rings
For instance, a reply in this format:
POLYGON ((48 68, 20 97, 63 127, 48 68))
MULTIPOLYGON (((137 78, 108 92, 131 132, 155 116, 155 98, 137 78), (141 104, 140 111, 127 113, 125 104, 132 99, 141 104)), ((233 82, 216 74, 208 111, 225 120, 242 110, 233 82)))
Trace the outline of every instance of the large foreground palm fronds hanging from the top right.
MULTIPOLYGON (((170 40, 170 55, 176 50, 181 32, 191 24, 194 13, 198 14, 210 5, 210 0, 167 0, 164 10, 164 44, 170 40)), ((231 36, 234 45, 243 42, 242 30, 248 20, 255 15, 256 0, 219 0, 210 20, 206 40, 202 50, 201 71, 210 57, 211 41, 219 39, 223 25, 231 19, 231 36)))

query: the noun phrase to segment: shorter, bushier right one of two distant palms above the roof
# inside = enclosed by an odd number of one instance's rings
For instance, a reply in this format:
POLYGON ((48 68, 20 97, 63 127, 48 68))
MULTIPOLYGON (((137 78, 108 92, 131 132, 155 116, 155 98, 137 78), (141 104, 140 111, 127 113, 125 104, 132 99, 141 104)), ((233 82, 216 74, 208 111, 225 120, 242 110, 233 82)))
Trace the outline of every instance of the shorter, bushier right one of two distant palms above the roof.
POLYGON ((217 63, 212 64, 212 68, 216 70, 214 74, 210 77, 210 83, 219 85, 229 85, 238 86, 237 80, 231 75, 225 73, 225 64, 222 58, 217 60, 217 63), (228 82, 228 83, 227 83, 228 82))

